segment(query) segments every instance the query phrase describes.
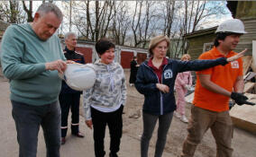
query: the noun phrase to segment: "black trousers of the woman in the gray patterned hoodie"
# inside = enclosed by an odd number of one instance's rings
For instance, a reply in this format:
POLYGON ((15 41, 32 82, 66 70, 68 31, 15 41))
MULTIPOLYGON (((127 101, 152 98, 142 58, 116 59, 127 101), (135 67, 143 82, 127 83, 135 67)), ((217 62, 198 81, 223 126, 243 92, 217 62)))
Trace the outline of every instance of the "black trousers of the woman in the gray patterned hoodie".
POLYGON ((91 108, 92 121, 94 126, 94 141, 96 157, 104 157, 104 138, 105 126, 107 125, 110 133, 110 152, 113 155, 119 151, 119 146, 123 130, 123 105, 114 112, 101 112, 91 108))

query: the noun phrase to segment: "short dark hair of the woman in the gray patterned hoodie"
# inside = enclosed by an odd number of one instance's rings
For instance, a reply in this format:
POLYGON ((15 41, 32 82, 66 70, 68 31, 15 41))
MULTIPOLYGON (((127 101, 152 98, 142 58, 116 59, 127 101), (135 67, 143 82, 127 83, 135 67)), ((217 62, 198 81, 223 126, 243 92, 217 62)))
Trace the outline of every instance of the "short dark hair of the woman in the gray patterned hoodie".
POLYGON ((102 55, 109 48, 115 48, 114 43, 108 39, 99 39, 96 41, 96 53, 102 55))

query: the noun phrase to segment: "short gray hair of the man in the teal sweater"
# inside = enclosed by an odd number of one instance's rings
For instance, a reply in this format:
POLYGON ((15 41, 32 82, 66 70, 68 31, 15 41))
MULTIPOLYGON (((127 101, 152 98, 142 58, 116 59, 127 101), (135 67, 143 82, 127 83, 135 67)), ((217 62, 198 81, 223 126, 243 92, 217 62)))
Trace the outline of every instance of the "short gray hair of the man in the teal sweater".
POLYGON ((40 13, 42 16, 46 13, 54 13, 60 21, 63 20, 63 14, 59 10, 59 7, 56 4, 43 3, 39 6, 36 13, 40 13))

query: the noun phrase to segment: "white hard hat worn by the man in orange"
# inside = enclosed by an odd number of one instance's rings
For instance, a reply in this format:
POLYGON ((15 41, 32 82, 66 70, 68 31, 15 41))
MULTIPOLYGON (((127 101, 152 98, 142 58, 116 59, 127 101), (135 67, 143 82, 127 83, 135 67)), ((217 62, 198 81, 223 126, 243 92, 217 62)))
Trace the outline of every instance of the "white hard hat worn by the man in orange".
POLYGON ((244 31, 244 25, 239 19, 231 19, 222 22, 215 32, 234 32, 239 34, 247 33, 244 31))

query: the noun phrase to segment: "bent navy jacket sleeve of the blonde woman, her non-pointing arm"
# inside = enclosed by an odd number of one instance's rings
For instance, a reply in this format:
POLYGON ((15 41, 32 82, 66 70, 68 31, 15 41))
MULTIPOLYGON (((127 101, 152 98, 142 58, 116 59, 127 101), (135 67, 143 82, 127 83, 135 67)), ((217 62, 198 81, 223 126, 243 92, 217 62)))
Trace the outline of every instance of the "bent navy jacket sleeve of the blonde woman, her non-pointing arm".
POLYGON ((135 82, 135 87, 137 91, 144 95, 150 94, 151 92, 159 91, 156 83, 146 83, 147 78, 145 78, 145 71, 146 69, 143 68, 143 65, 141 65, 139 67, 135 82))

